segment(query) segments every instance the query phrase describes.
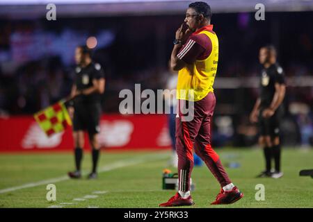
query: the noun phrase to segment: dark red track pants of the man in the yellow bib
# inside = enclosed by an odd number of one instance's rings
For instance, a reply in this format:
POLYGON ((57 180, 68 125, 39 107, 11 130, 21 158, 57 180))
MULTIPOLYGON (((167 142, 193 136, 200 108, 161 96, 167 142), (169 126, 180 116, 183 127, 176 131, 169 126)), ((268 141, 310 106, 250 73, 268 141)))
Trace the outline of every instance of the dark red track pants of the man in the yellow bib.
MULTIPOLYGON (((182 103, 179 101, 176 118, 176 151, 178 155, 179 190, 190 190, 191 171, 193 170, 193 148, 195 153, 207 164, 221 187, 231 183, 220 158, 211 148, 211 119, 214 113, 216 98, 209 92, 204 99, 191 106, 194 114, 191 121, 183 121, 182 103)), ((188 101, 187 101, 188 103, 188 101)), ((189 106, 189 109, 191 108, 189 106)), ((186 118, 185 118, 186 120, 186 118)))

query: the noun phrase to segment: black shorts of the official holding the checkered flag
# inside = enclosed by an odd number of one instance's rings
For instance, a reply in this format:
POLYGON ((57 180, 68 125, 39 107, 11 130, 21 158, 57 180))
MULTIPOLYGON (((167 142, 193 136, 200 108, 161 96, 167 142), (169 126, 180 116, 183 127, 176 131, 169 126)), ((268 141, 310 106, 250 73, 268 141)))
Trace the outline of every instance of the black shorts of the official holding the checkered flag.
POLYGON ((87 130, 90 135, 100 132, 100 103, 78 103, 74 105, 73 130, 87 130))

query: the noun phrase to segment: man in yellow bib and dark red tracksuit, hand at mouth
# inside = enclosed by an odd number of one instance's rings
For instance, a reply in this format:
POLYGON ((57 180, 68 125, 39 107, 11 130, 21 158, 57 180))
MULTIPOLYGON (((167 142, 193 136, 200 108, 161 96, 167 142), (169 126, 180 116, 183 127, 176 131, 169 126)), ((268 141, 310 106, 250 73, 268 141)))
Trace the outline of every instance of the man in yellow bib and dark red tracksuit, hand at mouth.
POLYGON ((243 197, 211 148, 210 125, 216 104, 213 84, 218 66, 218 37, 210 24, 211 15, 207 3, 191 3, 184 24, 176 32, 170 64, 179 71, 176 92, 179 100, 176 118, 179 190, 168 202, 161 203, 161 207, 194 204, 190 194, 193 148, 220 183, 221 191, 211 204, 234 203, 243 197), (193 103, 193 119, 186 120, 182 101, 193 103))

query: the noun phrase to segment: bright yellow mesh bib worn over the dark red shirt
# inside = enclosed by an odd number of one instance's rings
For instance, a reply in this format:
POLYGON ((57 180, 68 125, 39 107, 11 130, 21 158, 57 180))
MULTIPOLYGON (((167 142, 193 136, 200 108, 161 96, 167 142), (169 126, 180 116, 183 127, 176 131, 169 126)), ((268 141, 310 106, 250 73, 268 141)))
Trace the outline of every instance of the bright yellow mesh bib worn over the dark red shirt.
POLYGON ((193 64, 178 71, 177 99, 200 101, 209 92, 213 92, 218 65, 218 37, 209 31, 202 31, 199 34, 202 33, 211 40, 211 54, 205 60, 195 60, 193 64))

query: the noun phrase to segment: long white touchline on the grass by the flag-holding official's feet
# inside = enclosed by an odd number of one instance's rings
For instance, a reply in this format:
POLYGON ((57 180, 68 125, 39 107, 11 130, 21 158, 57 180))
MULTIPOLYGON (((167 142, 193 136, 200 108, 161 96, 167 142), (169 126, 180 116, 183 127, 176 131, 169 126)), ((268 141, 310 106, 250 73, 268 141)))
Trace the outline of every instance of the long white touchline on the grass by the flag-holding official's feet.
MULTIPOLYGON (((128 167, 128 166, 132 166, 136 164, 141 164, 143 162, 150 162, 152 160, 161 160, 166 157, 168 157, 168 155, 161 153, 161 154, 154 154, 154 155, 149 155, 149 156, 141 156, 141 157, 134 158, 132 160, 127 160, 127 161, 113 162, 110 165, 106 165, 104 167, 99 168, 98 172, 103 173, 103 172, 112 171, 114 169, 118 169, 122 167, 128 167)), ((82 173, 82 174, 83 176, 87 175, 87 173, 82 173)), ((6 189, 0 189, 0 194, 4 194, 10 191, 16 191, 18 189, 26 189, 26 188, 31 188, 31 187, 38 187, 41 185, 47 185, 50 183, 61 182, 64 180, 70 180, 70 178, 68 176, 61 176, 59 178, 51 178, 48 180, 40 180, 38 182, 30 182, 30 183, 26 183, 24 185, 17 186, 17 187, 9 187, 6 189)))

